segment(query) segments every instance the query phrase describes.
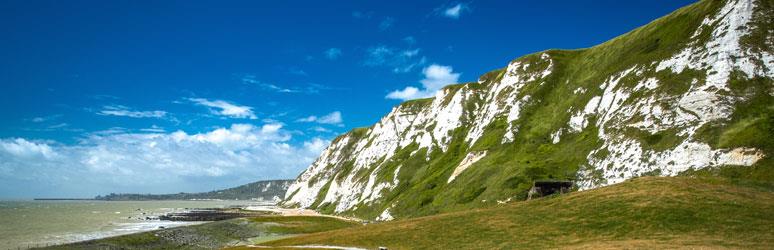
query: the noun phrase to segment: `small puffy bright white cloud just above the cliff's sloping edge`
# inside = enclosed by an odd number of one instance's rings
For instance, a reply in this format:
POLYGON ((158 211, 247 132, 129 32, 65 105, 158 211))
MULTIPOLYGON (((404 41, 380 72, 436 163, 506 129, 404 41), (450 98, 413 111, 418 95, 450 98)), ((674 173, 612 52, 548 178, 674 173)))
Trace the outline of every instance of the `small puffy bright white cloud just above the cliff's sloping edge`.
POLYGON ((422 70, 425 78, 420 80, 423 89, 408 86, 402 90, 395 90, 387 94, 387 99, 411 100, 418 98, 427 98, 435 94, 436 91, 449 84, 455 84, 459 81, 460 73, 454 73, 451 66, 432 64, 422 70))

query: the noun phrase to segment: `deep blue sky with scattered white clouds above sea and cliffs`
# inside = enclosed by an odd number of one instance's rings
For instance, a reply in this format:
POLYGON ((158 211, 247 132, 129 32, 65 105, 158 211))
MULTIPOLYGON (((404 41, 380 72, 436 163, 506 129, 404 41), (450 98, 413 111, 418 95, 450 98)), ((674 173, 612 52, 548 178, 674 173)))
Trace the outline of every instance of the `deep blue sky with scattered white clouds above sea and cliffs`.
POLYGON ((295 178, 403 99, 693 1, 2 1, 0 198, 295 178))

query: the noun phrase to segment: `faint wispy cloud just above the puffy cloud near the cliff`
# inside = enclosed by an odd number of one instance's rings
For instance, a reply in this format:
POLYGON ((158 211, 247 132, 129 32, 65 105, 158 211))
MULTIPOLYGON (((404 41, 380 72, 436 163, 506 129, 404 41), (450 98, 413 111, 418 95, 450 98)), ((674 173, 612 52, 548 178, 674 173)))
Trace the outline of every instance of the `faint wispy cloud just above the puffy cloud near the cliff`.
POLYGON ((420 56, 420 52, 420 49, 373 46, 366 49, 363 65, 370 67, 387 66, 392 68, 395 73, 407 73, 427 63, 427 58, 420 56))

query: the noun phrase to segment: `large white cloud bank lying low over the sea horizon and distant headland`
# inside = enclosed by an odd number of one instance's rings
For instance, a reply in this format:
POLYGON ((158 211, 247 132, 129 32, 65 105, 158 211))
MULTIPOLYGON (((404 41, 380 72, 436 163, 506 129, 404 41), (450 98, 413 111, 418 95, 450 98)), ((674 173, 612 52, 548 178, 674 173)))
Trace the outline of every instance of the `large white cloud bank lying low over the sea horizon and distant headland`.
POLYGON ((192 134, 95 133, 73 145, 0 139, 0 197, 190 192, 293 178, 328 141, 291 139, 292 132, 277 123, 233 124, 192 134), (10 183, 28 183, 42 191, 24 193, 32 191, 10 183))

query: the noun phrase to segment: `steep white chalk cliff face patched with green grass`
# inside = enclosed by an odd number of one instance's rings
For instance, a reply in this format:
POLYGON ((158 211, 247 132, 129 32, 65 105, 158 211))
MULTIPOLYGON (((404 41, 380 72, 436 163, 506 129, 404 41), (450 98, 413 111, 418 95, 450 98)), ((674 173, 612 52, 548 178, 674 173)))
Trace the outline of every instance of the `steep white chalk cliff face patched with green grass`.
POLYGON ((702 1, 400 104, 335 139, 284 204, 390 220, 523 199, 536 179, 590 189, 721 167, 768 178, 772 5, 702 1))

